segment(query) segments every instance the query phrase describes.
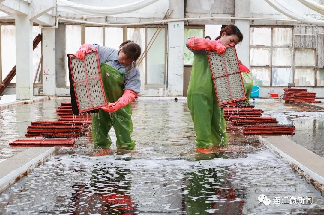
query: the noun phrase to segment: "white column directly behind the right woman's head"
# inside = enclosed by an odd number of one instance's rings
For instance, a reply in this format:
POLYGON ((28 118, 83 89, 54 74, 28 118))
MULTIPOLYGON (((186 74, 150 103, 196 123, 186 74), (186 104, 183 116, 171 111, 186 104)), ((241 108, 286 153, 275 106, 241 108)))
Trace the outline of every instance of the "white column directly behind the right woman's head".
MULTIPOLYGON (((235 17, 250 17, 250 0, 235 0, 235 17)), ((243 34, 243 41, 236 46, 238 59, 250 66, 250 21, 236 20, 235 25, 243 34)))

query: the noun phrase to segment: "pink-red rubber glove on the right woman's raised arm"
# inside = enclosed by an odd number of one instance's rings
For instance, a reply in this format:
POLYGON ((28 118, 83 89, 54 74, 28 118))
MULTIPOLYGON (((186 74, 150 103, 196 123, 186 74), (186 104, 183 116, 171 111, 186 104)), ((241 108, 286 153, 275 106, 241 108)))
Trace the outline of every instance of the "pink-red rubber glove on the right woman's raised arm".
POLYGON ((217 51, 218 54, 225 52, 226 47, 223 46, 219 40, 207 40, 201 37, 191 37, 188 39, 188 46, 192 50, 207 50, 207 51, 217 51))

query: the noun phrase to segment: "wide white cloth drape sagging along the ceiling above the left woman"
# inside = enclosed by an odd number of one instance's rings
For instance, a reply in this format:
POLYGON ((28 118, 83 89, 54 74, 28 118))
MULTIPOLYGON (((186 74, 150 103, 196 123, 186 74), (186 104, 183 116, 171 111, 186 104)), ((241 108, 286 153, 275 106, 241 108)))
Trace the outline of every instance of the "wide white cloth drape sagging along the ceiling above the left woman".
MULTIPOLYGON (((73 3, 67 0, 57 0, 57 10, 80 15, 108 16, 129 13, 151 5, 158 0, 139 0, 134 3, 112 7, 90 6, 73 3)), ((122 1, 120 1, 122 2, 122 1)))

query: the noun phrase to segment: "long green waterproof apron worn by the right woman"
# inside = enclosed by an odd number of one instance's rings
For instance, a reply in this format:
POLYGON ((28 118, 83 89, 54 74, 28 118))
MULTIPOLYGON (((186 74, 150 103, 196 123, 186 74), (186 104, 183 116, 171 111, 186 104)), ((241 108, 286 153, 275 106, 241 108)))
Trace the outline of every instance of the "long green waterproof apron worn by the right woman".
POLYGON ((226 146, 224 111, 218 106, 207 54, 194 55, 187 103, 197 136, 196 146, 226 146))

